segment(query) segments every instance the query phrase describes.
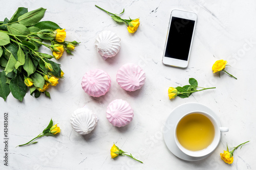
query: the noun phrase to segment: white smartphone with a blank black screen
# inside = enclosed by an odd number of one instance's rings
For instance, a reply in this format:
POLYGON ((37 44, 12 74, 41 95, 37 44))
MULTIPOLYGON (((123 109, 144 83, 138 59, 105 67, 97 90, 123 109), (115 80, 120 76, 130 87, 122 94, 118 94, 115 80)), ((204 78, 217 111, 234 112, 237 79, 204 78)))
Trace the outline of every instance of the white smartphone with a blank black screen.
POLYGON ((170 14, 162 62, 186 68, 195 33, 197 14, 173 10, 170 14))

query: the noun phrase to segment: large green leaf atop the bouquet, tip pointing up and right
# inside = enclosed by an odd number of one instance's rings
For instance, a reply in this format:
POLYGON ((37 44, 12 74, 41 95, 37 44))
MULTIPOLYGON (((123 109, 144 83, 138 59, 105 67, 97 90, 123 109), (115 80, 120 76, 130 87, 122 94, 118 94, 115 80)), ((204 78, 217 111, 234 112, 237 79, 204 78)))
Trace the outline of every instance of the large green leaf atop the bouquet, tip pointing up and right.
POLYGON ((44 17, 45 11, 46 9, 44 8, 38 8, 36 10, 27 12, 22 16, 18 17, 18 22, 24 26, 33 26, 37 22, 39 22, 42 19, 42 17, 44 17))

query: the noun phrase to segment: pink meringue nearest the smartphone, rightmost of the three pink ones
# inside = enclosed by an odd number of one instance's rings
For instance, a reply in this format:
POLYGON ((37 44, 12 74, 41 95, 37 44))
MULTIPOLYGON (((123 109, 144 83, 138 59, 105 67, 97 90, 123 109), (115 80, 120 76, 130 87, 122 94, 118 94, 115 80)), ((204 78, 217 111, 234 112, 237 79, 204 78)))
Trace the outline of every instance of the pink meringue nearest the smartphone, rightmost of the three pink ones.
POLYGON ((135 91, 145 83, 145 72, 140 66, 127 63, 117 71, 116 81, 124 90, 135 91))

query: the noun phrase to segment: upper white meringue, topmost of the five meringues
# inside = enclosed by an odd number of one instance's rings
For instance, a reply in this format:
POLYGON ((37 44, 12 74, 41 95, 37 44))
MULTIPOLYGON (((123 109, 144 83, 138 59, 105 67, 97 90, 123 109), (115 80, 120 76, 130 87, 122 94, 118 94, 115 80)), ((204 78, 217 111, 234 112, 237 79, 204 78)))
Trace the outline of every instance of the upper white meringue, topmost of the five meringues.
POLYGON ((97 52, 105 59, 114 57, 121 48, 121 39, 116 33, 102 31, 94 43, 97 52))

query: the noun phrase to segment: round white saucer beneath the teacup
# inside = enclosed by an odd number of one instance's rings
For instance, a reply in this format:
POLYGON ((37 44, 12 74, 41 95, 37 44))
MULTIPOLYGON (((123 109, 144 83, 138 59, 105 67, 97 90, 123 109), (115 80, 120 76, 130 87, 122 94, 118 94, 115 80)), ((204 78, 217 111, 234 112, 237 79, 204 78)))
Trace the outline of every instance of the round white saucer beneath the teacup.
MULTIPOLYGON (((178 107, 176 107, 172 112, 170 112, 167 120, 165 122, 164 130, 163 130, 163 138, 167 148, 172 152, 175 156, 180 159, 187 160, 187 161, 197 161, 208 157, 210 154, 202 157, 191 157, 184 154, 177 146, 174 140, 174 129, 175 125, 177 124, 178 120, 186 113, 191 111, 204 111, 209 113, 212 117, 214 117, 217 121, 219 127, 221 127, 221 123, 219 117, 209 109, 208 107, 200 104, 200 103, 185 103, 178 107)), ((214 151, 212 151, 214 152, 214 151)))

